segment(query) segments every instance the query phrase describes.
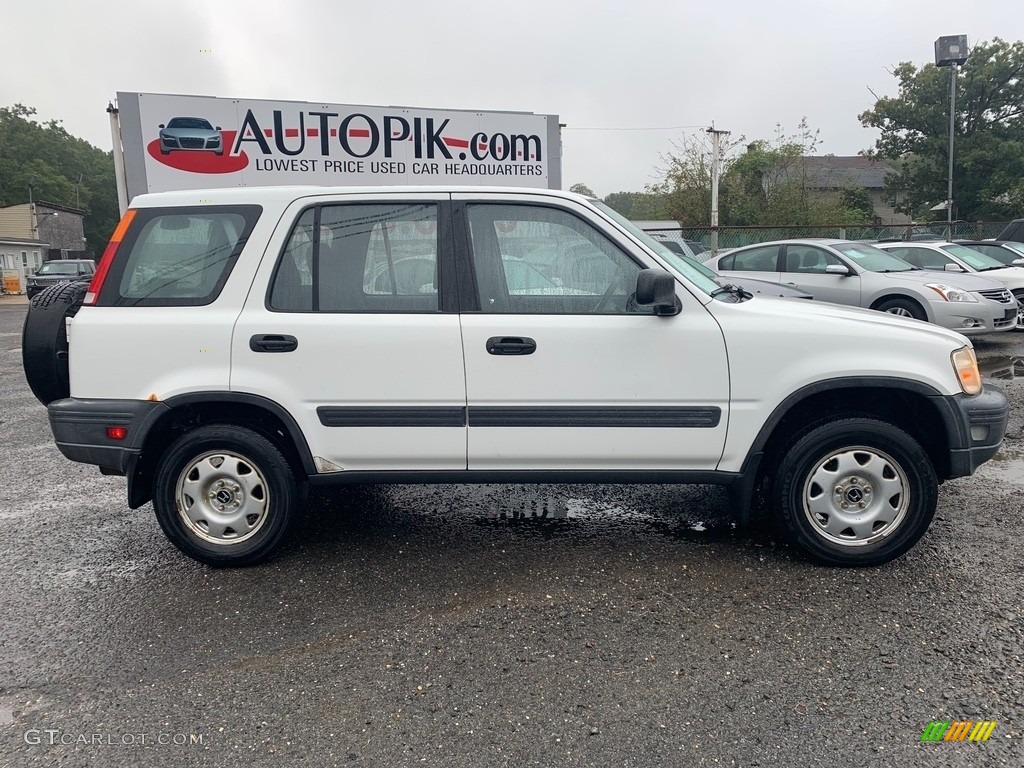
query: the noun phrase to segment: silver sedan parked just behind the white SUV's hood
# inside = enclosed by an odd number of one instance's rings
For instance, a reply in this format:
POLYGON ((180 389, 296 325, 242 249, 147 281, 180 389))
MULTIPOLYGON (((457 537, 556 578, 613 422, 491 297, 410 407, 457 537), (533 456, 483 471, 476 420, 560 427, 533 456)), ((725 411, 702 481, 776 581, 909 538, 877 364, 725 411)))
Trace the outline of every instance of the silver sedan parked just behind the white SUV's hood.
POLYGON ((708 266, 729 278, 792 283, 817 301, 927 321, 965 335, 1010 331, 1018 303, 980 274, 930 272, 865 243, 779 240, 737 248, 708 266))

